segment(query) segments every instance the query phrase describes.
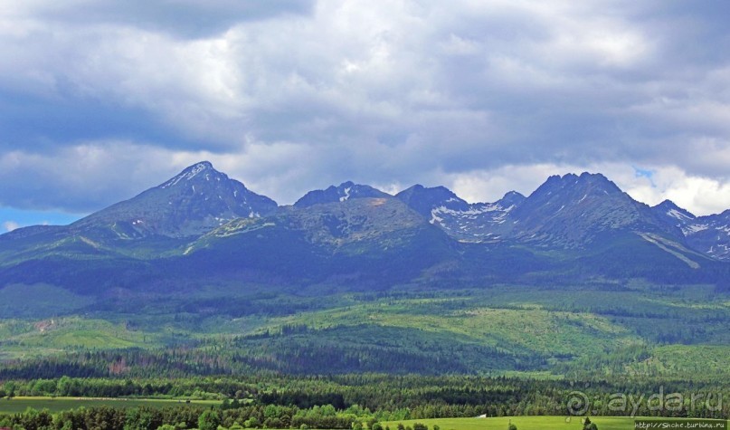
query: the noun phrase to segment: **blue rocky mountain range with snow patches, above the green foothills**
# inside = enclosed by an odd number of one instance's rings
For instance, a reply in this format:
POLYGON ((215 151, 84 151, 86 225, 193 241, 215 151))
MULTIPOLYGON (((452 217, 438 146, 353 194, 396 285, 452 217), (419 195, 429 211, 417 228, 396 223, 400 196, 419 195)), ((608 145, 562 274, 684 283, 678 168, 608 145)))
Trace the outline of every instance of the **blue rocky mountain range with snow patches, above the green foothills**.
POLYGON ((644 205, 600 174, 469 204, 443 186, 395 196, 345 182, 277 205, 204 161, 64 226, 0 235, 0 288, 84 294, 224 280, 390 288, 404 282, 645 278, 722 283, 730 210, 644 205))

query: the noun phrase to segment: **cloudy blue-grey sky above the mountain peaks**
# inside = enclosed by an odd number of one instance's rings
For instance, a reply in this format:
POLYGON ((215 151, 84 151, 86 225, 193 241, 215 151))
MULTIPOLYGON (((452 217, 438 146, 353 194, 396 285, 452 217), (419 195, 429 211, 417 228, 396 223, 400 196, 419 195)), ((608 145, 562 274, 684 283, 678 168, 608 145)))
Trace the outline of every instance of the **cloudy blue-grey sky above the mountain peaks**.
POLYGON ((196 161, 289 204, 601 172, 730 208, 725 0, 0 0, 0 232, 196 161))

